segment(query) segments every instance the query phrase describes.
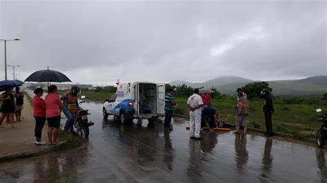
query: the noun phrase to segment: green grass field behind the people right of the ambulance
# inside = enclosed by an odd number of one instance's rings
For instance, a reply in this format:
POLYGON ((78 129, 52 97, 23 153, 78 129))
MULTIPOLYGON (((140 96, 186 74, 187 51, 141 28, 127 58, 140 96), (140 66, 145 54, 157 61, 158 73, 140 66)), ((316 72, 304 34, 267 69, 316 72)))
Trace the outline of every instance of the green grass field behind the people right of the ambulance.
MULTIPOLYGON (((175 114, 188 116, 186 107, 187 98, 175 98, 178 107, 175 114)), ((264 122, 264 113, 262 111, 263 100, 260 98, 249 100, 250 114, 248 116, 249 127, 257 129, 266 129, 264 122)), ((236 98, 226 96, 224 98, 212 99, 212 105, 219 112, 219 119, 222 121, 235 122, 235 104, 236 98)), ((305 103, 310 103, 310 100, 305 103)), ((327 111, 326 101, 320 101, 316 104, 285 104, 280 98, 274 99, 275 115, 273 115, 274 131, 288 133, 297 138, 315 138, 317 129, 321 122, 317 120, 315 109, 321 108, 327 111)))

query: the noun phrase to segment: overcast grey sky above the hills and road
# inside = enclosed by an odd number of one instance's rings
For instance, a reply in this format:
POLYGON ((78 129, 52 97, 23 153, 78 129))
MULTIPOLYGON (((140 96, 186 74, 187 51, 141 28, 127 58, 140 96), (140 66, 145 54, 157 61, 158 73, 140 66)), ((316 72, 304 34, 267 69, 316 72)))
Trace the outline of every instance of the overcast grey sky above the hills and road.
POLYGON ((0 39, 21 39, 7 43, 21 80, 47 66, 74 83, 327 75, 324 0, 0 1, 0 39))

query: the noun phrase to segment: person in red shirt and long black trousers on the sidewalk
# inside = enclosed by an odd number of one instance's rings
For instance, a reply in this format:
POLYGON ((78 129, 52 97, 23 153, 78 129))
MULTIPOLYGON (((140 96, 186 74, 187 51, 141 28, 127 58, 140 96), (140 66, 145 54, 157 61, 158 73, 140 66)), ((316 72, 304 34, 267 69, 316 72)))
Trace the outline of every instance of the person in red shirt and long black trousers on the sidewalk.
POLYGON ((44 103, 43 98, 41 98, 41 96, 43 95, 43 89, 35 89, 34 94, 35 96, 33 98, 33 116, 35 118, 34 135, 36 138, 34 140, 34 144, 45 145, 46 142, 44 140, 41 141, 42 129, 44 123, 46 122, 46 103, 44 103))

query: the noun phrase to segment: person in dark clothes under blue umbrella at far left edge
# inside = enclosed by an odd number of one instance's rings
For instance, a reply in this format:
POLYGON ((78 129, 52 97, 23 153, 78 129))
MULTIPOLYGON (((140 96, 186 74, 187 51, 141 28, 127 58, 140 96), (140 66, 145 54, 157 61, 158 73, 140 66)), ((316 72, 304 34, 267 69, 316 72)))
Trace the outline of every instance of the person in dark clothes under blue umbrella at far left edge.
POLYGON ((12 87, 8 87, 6 92, 3 92, 0 96, 0 100, 2 101, 1 105, 1 113, 0 117, 0 128, 2 128, 2 121, 8 116, 10 120, 11 127, 13 129, 17 128, 14 126, 14 110, 15 110, 15 100, 14 94, 11 93, 12 87))

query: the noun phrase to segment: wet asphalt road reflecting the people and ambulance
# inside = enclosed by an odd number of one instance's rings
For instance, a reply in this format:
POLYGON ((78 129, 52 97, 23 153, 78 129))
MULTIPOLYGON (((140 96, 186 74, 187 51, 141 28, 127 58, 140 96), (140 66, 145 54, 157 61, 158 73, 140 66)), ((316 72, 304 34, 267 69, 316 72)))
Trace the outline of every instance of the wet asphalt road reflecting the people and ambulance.
MULTIPOLYGON (((83 147, 0 164, 0 182, 326 182, 327 151, 263 136, 204 131, 190 140, 186 120, 174 130, 102 120, 90 110, 83 147)), ((43 137, 44 134, 43 134, 43 137)))

